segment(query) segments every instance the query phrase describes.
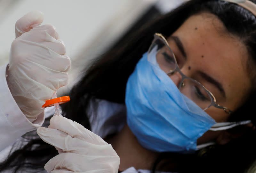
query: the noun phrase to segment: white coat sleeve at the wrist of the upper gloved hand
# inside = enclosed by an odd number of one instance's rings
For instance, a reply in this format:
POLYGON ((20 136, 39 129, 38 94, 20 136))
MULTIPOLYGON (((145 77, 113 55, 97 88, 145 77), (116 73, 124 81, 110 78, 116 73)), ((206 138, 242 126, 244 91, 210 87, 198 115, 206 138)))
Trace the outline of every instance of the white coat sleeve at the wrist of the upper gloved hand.
POLYGON ((44 112, 31 123, 21 112, 6 82, 6 67, 0 67, 0 151, 44 122, 44 112))

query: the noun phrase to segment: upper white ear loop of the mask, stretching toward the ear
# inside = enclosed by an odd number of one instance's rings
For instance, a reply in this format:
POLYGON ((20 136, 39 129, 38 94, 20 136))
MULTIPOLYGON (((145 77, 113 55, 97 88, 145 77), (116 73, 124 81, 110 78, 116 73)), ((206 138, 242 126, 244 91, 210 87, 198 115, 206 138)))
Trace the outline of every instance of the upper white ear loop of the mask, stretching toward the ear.
POLYGON ((209 130, 211 131, 220 131, 220 130, 227 130, 236 126, 241 126, 245 124, 251 123, 251 120, 240 121, 240 122, 225 122, 225 123, 216 123, 214 124, 209 130))

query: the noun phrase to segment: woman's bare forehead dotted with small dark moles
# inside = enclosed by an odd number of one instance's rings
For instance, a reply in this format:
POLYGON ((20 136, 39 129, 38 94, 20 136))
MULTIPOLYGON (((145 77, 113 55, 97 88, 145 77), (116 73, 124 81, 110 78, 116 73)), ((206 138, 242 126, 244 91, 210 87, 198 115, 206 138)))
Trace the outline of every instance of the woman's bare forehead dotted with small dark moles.
POLYGON ((193 15, 172 35, 180 38, 192 68, 220 81, 227 98, 241 100, 250 88, 247 49, 216 16, 206 12, 193 15))

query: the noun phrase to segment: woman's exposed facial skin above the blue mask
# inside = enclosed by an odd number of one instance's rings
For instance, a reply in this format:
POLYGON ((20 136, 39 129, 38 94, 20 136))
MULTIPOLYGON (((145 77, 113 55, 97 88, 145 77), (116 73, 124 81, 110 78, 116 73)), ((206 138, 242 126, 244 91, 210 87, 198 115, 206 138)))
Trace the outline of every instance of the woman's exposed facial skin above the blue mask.
MULTIPOLYGON (((219 105, 232 111, 242 105, 251 85, 246 70, 249 56, 244 43, 229 34, 216 16, 206 12, 193 15, 166 39, 184 75, 203 84, 219 105)), ((180 83, 180 73, 170 77, 176 85, 180 83)), ((206 112, 216 122, 229 117, 213 106, 206 112)))

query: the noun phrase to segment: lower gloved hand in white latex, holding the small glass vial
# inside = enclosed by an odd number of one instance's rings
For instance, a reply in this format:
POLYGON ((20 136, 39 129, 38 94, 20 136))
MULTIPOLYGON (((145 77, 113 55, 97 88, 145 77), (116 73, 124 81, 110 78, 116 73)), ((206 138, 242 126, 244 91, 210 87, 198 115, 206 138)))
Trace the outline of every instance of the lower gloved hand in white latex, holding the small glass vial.
POLYGON ((59 155, 44 166, 51 173, 117 173, 120 158, 100 136, 62 116, 53 116, 48 128, 37 128, 40 138, 55 146, 59 155))

